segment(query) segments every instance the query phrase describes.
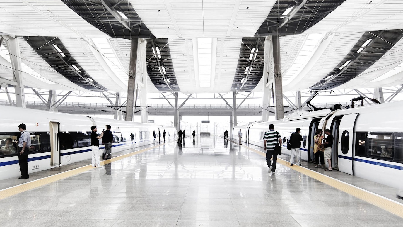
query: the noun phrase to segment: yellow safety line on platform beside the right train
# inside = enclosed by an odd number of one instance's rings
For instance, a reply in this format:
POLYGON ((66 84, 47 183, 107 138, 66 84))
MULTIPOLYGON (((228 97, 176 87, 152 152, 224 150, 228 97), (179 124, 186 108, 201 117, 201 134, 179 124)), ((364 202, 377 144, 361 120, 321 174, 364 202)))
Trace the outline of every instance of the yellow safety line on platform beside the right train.
MULTIPOLYGON (((233 143, 236 143, 236 142, 233 141, 233 143)), ((239 145, 239 146, 245 147, 255 153, 260 154, 261 156, 266 157, 266 153, 264 153, 263 151, 253 149, 253 148, 247 147, 245 145, 239 145)), ((391 213, 396 214, 397 216, 403 218, 403 204, 400 204, 399 202, 393 201, 382 195, 375 194, 373 192, 370 192, 365 189, 351 185, 349 183, 345 183, 343 181, 334 179, 334 178, 326 176, 320 172, 316 172, 314 170, 310 170, 310 169, 302 167, 302 166, 290 166, 289 162, 287 162, 281 158, 277 158, 277 163, 287 166, 288 168, 291 168, 295 171, 301 172, 301 173, 307 175, 308 177, 312 177, 313 179, 316 179, 320 182, 323 182, 327 185, 330 185, 334 188, 344 191, 345 193, 353 195, 356 198, 364 200, 370 204, 378 206, 379 208, 382 208, 388 212, 391 212, 391 213)))

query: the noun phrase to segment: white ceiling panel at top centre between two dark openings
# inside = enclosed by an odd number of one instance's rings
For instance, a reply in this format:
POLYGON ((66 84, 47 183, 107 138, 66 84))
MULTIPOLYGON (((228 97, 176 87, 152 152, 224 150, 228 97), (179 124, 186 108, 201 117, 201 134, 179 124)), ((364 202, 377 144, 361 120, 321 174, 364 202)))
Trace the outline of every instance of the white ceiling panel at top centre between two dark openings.
POLYGON ((135 11, 157 38, 253 36, 275 2, 131 0, 135 11))

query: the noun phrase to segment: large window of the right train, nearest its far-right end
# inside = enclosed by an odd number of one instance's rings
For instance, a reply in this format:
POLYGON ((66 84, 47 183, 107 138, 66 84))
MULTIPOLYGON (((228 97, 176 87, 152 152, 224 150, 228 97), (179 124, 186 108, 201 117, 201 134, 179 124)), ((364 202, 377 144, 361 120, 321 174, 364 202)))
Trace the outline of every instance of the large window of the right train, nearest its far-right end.
POLYGON ((370 132, 368 135, 368 156, 383 160, 393 160, 393 132, 370 132))

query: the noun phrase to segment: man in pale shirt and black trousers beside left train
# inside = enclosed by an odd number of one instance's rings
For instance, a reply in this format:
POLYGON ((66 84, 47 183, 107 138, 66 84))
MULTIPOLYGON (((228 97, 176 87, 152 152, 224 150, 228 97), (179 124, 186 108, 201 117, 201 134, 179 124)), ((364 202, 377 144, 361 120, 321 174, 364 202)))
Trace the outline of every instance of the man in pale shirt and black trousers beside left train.
POLYGON ((31 134, 27 131, 25 124, 20 124, 18 130, 21 132, 21 136, 18 139, 18 147, 20 153, 18 155, 18 164, 20 165, 21 177, 18 179, 28 179, 28 148, 31 147, 31 134))

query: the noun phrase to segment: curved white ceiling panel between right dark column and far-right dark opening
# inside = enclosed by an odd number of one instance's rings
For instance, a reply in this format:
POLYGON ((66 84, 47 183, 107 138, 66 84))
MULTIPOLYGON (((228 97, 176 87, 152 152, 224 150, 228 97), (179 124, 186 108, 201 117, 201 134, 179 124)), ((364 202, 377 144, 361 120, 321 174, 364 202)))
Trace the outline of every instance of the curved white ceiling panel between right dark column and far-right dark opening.
MULTIPOLYGON (((322 80, 337 64, 344 59, 364 32, 334 34, 321 57, 306 74, 298 75, 292 82, 283 86, 283 91, 295 91, 310 88, 322 80)), ((322 41, 323 42, 323 41, 322 41)))

